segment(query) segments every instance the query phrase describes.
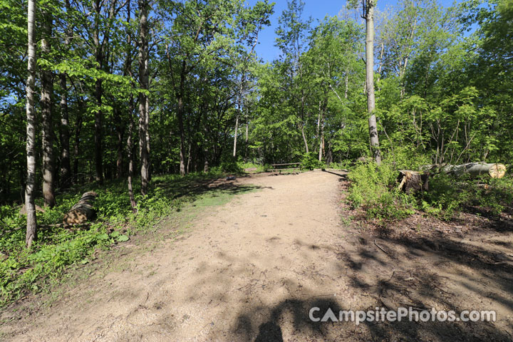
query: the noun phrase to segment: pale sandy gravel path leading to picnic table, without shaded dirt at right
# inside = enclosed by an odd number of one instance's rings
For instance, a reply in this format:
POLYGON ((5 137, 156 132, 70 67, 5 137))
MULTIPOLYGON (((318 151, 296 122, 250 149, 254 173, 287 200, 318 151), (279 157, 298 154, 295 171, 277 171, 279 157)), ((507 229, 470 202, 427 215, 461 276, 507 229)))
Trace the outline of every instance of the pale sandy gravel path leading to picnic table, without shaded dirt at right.
POLYGON ((13 341, 315 340, 322 329, 309 308, 347 296, 333 247, 343 235, 338 180, 321 171, 237 180, 261 190, 4 328, 13 341))

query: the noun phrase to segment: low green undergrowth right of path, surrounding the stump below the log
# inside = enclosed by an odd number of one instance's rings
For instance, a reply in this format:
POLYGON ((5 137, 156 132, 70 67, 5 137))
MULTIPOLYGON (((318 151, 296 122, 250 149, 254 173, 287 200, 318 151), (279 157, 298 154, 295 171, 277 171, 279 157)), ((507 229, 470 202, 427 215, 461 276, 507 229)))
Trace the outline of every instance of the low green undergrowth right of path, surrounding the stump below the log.
MULTIPOLYGON (((403 167, 409 165, 406 168, 413 170, 418 170, 418 166, 425 163, 423 157, 412 157, 410 162, 405 158, 401 160, 403 167)), ((353 207, 365 209, 368 218, 400 219, 420 209, 426 214, 449 220, 457 212, 498 215, 512 207, 511 176, 497 180, 433 174, 429 180, 429 191, 408 195, 398 190, 398 167, 392 164, 390 159, 380 167, 373 162, 360 163, 349 172, 348 201, 353 207)))

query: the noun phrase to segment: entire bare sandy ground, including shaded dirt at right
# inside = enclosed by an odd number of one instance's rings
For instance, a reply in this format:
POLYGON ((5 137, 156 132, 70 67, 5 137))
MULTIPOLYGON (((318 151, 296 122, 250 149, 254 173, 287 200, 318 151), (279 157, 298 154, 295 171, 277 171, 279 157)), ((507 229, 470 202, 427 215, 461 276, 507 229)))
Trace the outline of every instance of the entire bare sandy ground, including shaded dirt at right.
MULTIPOLYGON (((342 176, 342 177, 341 177, 342 176)), ((219 181, 219 183, 226 181, 219 181)), ((178 240, 0 326, 9 341, 513 341, 511 217, 368 224, 338 172, 252 175, 178 240), (341 191, 342 190, 342 191, 341 191), (313 322, 312 307, 495 310, 496 322, 313 322)), ((216 186, 214 184, 213 186, 216 186)), ((172 223, 167 223, 172 224, 172 223)), ((169 227, 168 227, 169 228, 169 227)), ((162 227, 166 229, 166 227, 162 227)), ((123 255, 125 254, 125 255, 123 255)), ((130 256, 132 259, 130 259, 130 256)), ((37 299, 29 299, 36 301, 37 299)), ((322 316, 322 314, 319 314, 322 316)))

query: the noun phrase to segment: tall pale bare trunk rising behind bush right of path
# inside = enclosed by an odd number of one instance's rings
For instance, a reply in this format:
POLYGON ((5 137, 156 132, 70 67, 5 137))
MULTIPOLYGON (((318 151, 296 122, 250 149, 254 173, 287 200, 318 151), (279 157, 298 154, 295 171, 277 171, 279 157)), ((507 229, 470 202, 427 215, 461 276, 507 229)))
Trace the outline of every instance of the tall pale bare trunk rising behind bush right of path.
POLYGON ((366 93, 371 150, 376 164, 379 165, 381 163, 381 152, 379 149, 374 97, 374 6, 375 0, 366 0, 366 93))

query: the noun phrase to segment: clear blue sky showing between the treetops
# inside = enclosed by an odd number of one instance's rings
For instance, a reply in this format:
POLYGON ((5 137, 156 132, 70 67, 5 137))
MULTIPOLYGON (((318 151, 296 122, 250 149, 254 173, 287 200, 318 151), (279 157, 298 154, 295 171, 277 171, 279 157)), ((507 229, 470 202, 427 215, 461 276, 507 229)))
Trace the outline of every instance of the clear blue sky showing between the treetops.
MULTIPOLYGON (((347 1, 344 0, 304 0, 305 6, 303 11, 304 18, 309 16, 314 19, 313 25, 316 24, 317 19, 322 20, 325 16, 336 16, 341 9, 343 9, 347 1)), ((249 0, 249 4, 254 5, 257 0, 249 0)), ((269 0, 269 2, 273 2, 269 0)), ((264 28, 259 34, 259 45, 256 50, 260 58, 264 61, 272 61, 279 56, 279 48, 274 46, 274 38, 276 35, 274 30, 278 26, 278 18, 281 12, 286 9, 286 0, 274 0, 274 14, 271 16, 271 26, 264 28)), ((378 0, 378 9, 384 11, 388 7, 393 7, 397 4, 397 0, 378 0)), ((439 0, 443 6, 450 6, 452 0, 439 0)))

